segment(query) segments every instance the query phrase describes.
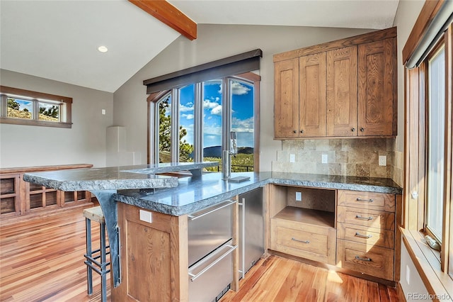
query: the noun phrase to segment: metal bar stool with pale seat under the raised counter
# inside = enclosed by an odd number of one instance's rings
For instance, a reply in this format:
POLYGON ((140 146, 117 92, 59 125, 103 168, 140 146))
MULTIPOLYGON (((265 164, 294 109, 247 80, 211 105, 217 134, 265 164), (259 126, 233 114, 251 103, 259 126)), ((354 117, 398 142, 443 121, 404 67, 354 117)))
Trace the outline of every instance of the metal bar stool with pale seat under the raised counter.
POLYGON ((105 219, 101 210, 101 206, 86 208, 85 216, 85 231, 86 231, 86 279, 88 283, 88 295, 93 293, 93 270, 101 275, 101 301, 107 300, 107 274, 110 272, 110 261, 107 262, 106 256, 110 254, 110 246, 105 245, 105 219), (91 248, 91 220, 99 223, 101 231, 101 247, 98 250, 91 248), (98 259, 101 258, 101 262, 98 259))

